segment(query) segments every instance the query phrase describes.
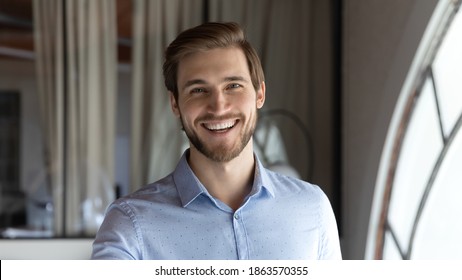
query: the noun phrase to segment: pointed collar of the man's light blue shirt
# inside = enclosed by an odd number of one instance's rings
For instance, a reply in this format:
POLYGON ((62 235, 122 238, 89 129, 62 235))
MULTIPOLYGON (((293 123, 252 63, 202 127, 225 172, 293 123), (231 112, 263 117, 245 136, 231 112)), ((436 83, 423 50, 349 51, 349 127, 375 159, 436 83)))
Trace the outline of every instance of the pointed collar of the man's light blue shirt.
MULTIPOLYGON (((181 156, 178 165, 173 171, 173 180, 175 181, 178 194, 183 207, 188 206, 199 195, 208 193, 188 164, 189 149, 181 156)), ((274 197, 274 185, 268 175, 268 170, 263 166, 258 157, 255 155, 255 176, 252 191, 249 196, 259 193, 262 188, 266 189, 271 197, 274 197)))

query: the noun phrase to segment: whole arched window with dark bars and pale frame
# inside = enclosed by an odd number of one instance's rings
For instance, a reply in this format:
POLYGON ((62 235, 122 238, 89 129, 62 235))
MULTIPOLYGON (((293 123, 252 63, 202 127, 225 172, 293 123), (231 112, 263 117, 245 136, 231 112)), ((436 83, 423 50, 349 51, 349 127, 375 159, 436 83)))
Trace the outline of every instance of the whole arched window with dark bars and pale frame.
POLYGON ((462 257, 461 1, 440 1, 397 104, 368 252, 377 259, 462 257))

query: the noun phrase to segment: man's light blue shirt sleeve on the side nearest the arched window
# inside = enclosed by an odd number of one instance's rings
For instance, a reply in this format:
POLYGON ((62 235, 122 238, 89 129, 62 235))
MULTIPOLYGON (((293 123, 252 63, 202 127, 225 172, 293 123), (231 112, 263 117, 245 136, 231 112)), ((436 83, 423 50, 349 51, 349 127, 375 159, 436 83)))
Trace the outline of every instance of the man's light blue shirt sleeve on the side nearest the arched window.
POLYGON ((322 193, 320 199, 321 246, 319 259, 341 260, 340 239, 334 211, 327 196, 322 193))

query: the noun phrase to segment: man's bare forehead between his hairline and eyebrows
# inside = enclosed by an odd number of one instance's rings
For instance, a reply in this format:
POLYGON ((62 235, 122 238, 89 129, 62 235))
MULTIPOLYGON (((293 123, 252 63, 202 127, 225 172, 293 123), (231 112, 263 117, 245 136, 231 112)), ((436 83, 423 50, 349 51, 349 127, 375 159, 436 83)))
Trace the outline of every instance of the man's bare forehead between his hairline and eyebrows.
POLYGON ((226 76, 250 78, 244 52, 237 47, 216 48, 185 56, 178 64, 178 85, 190 79, 205 81, 226 76))

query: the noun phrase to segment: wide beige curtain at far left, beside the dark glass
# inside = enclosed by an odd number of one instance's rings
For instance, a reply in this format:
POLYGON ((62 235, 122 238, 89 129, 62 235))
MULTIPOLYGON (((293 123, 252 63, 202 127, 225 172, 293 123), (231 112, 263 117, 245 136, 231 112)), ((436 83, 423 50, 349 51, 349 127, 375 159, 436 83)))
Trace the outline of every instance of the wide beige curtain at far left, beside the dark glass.
POLYGON ((115 1, 64 3, 34 1, 55 233, 92 235, 114 199, 115 1))

